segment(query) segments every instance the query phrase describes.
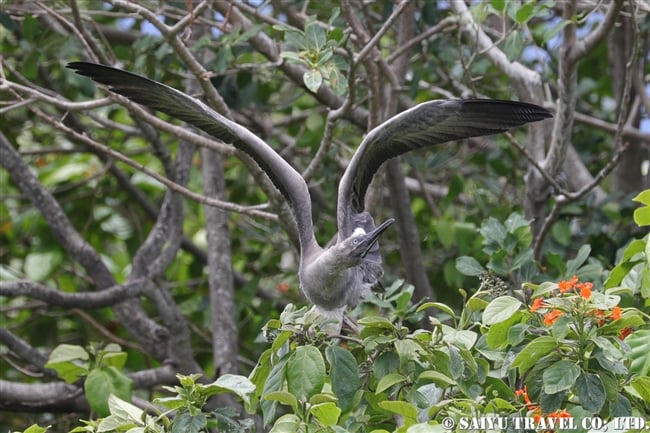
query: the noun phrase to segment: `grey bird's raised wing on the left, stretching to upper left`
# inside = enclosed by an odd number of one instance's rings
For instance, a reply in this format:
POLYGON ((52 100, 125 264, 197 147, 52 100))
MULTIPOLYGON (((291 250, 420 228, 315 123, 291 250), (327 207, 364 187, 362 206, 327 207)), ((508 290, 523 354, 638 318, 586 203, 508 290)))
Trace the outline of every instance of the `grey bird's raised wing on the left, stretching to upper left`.
POLYGON ((299 231, 309 232, 311 237, 311 200, 304 179, 273 148, 248 129, 198 99, 140 75, 88 62, 73 62, 67 67, 107 85, 115 93, 194 125, 249 154, 289 201, 299 231))

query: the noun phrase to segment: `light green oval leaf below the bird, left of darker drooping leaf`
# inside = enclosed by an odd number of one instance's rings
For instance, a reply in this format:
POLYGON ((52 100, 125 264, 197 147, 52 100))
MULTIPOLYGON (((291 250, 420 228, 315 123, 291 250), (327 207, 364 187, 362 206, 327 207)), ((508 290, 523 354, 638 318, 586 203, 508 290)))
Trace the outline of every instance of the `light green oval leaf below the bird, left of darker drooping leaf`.
POLYGON ((320 392, 325 383, 325 361, 314 346, 300 346, 287 361, 287 386, 299 400, 320 392))

